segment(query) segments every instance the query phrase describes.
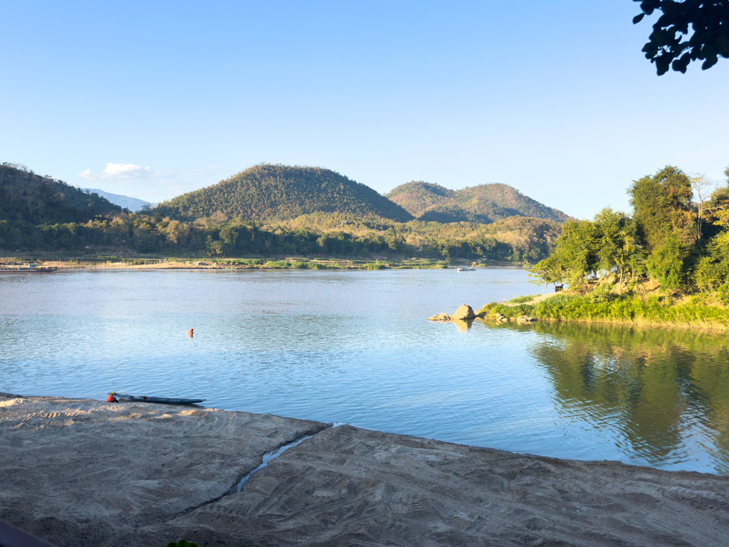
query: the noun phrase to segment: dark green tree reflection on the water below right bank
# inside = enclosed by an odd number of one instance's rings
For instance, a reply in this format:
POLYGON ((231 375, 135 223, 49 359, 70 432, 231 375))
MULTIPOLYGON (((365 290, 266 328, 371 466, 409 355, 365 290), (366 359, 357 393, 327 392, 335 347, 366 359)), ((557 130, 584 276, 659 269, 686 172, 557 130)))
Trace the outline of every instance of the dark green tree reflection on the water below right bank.
MULTIPOLYGON (((487 325, 490 326, 490 325, 487 325)), ((703 443, 729 473, 729 350, 687 331, 539 323, 529 352, 548 373, 558 411, 619 430, 626 451, 660 464, 703 443)))

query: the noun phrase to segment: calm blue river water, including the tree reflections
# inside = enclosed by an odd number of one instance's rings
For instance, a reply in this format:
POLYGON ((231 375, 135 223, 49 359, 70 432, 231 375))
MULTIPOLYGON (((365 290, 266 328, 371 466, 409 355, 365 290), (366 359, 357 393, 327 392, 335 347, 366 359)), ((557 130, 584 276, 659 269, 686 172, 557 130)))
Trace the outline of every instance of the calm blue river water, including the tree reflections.
POLYGON ((0 391, 202 397, 213 408, 729 474, 725 336, 426 320, 534 292, 517 268, 4 275, 0 391))

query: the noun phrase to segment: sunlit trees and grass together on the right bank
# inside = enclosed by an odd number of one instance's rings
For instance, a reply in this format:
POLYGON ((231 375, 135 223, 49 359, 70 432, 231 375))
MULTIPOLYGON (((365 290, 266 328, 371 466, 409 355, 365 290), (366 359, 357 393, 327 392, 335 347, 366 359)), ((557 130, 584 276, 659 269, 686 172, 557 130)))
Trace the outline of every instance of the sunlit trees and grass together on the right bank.
POLYGON ((480 313, 729 327, 729 168, 725 174, 716 189, 671 166, 634 181, 633 214, 607 208, 566 222, 550 255, 531 268, 547 291, 555 284, 568 292, 531 305, 491 303, 480 313))

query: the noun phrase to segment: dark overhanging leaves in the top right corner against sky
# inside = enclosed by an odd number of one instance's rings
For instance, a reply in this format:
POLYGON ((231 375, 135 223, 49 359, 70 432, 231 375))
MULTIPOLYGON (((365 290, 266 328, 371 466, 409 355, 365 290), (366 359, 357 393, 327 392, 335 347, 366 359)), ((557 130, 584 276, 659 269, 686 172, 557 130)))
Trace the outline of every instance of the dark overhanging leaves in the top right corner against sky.
POLYGON ((703 61, 701 69, 706 70, 719 56, 729 58, 729 0, 633 1, 640 1, 642 10, 633 18, 634 24, 656 9, 663 12, 642 50, 655 63, 658 76, 669 67, 685 74, 691 61, 703 61), (686 39, 689 25, 693 34, 686 39))

